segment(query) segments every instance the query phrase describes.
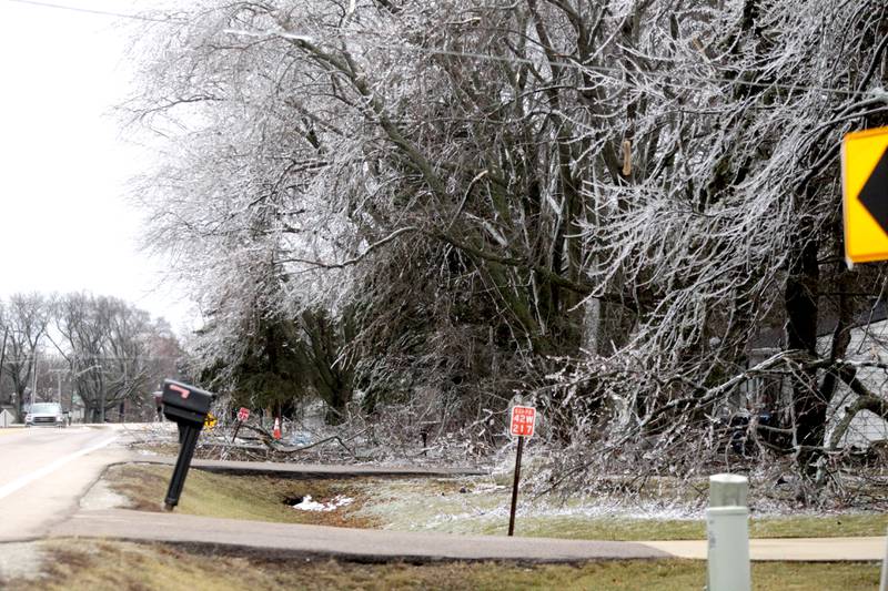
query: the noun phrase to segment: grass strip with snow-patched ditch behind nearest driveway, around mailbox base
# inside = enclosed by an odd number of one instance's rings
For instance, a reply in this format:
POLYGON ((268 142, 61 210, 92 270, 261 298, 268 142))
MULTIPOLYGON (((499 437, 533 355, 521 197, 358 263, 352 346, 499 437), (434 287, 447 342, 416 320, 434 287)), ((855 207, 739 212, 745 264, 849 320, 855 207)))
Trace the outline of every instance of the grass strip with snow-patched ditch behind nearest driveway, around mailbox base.
MULTIPOLYGON (((113 467, 105 480, 134 508, 160 510, 172 468, 113 467)), ((286 523, 389 528, 407 531, 505 534, 509 491, 485 479, 293 480, 215 475, 192 469, 176 511, 191 514, 286 523), (354 499, 330 512, 299 511, 284 503, 311 495, 354 499)), ((706 537, 702 519, 634 516, 625 507, 598 507, 588 500, 556 505, 519 499, 515 532, 527 537, 597 540, 688 540, 706 537)), ((750 520, 753 538, 884 536, 885 514, 765 517, 750 520)))

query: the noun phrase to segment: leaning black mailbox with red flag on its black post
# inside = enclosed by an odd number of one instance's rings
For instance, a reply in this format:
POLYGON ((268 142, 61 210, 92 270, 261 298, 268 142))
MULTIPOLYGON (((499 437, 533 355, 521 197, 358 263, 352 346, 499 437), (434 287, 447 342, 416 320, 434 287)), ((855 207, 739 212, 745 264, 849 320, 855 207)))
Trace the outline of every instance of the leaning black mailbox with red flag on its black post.
POLYGON ((191 467, 191 458, 194 456, 194 447, 198 445, 198 436, 203 428, 206 414, 210 412, 213 396, 209 391, 181 381, 172 379, 163 381, 163 416, 174 420, 179 427, 179 459, 175 460, 173 477, 170 480, 170 488, 167 489, 167 499, 163 501, 163 507, 168 511, 172 511, 179 505, 182 487, 185 486, 185 476, 191 467))

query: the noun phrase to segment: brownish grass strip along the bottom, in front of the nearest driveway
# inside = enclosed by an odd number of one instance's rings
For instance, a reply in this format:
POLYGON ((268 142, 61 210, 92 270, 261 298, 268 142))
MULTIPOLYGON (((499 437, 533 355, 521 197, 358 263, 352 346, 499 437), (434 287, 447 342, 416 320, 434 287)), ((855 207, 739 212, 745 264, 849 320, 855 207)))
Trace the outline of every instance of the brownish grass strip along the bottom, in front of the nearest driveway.
MULTIPOLYGON (((675 591, 703 589, 703 561, 609 561, 583 565, 515 565, 493 562, 357 564, 293 558, 204 553, 163 544, 89 540, 42 542, 44 577, 7 581, 30 590, 249 590, 264 589, 595 589, 675 591)), ((871 590, 876 563, 753 564, 759 591, 871 590)))

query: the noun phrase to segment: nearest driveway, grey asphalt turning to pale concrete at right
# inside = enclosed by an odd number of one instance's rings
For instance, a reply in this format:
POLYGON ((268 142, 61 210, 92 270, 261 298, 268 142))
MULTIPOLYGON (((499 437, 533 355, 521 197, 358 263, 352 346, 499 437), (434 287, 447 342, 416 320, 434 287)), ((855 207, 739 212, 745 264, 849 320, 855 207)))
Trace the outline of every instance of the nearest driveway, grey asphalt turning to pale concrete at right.
MULTIPOLYGON (((312 554, 362 561, 514 560, 584 562, 682 558, 706 560, 706 540, 616 542, 553 538, 461 536, 437 532, 332 528, 219 519, 180 513, 109 509, 80 511, 52 528, 54 538, 112 538, 131 541, 195 543, 312 554)), ((886 539, 800 538, 750 540, 756 561, 880 561, 886 539)))

